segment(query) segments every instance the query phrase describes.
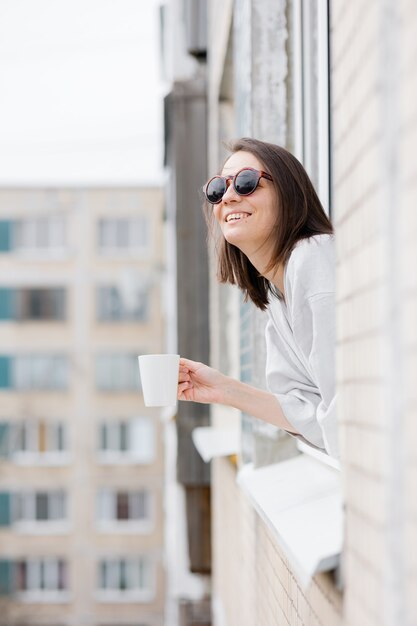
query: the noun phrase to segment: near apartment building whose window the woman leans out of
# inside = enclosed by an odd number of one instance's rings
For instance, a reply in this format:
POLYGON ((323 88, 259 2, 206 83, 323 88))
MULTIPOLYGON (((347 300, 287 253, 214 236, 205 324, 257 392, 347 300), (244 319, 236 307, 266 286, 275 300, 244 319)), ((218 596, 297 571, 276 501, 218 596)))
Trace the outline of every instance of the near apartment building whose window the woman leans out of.
MULTIPOLYGON (((203 431, 196 438, 212 458, 213 623, 413 626, 415 4, 197 5, 208 11, 207 63, 200 55, 188 92, 205 77, 207 141, 190 134, 186 153, 193 161, 205 149, 208 171, 196 186, 217 172, 224 140, 279 143, 309 172, 337 247, 340 462, 222 407, 212 407, 206 445, 203 431)), ((264 387, 265 316, 217 284, 212 250, 209 273, 210 363, 264 387)))

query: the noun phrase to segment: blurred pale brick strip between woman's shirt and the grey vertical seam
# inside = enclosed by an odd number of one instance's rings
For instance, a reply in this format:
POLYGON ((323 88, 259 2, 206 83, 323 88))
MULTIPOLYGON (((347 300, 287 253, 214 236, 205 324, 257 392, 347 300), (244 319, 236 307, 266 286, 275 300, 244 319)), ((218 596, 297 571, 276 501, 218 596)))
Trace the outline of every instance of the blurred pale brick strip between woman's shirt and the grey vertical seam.
POLYGON ((382 619, 389 497, 379 11, 376 2, 336 1, 332 6, 338 407, 347 503, 345 616, 348 624, 366 626, 382 619))

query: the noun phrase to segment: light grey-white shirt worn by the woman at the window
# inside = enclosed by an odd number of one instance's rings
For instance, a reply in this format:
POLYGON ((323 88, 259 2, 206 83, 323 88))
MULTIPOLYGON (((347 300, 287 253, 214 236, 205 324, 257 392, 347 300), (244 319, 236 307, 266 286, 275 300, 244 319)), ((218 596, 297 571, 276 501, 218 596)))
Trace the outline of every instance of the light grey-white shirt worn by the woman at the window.
POLYGON ((303 357, 300 368, 269 320, 266 378, 269 390, 302 439, 338 457, 334 310, 333 293, 307 298, 298 309, 293 333, 303 357), (306 370, 309 379, 305 376, 306 370))

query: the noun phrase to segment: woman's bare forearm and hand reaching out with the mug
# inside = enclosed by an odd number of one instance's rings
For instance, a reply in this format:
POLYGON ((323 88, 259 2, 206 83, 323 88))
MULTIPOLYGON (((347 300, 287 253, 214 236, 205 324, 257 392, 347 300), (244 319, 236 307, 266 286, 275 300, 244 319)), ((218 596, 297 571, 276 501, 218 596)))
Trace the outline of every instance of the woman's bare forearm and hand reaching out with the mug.
POLYGON ((225 376, 203 363, 180 359, 178 399, 232 406, 292 434, 298 434, 272 393, 225 376))

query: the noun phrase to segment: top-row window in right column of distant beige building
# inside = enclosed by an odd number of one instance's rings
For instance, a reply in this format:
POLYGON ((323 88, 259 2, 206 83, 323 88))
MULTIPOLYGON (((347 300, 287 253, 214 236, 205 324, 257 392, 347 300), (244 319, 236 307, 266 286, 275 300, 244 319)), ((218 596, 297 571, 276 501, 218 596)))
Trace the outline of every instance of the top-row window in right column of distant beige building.
POLYGON ((102 218, 98 222, 98 247, 102 254, 144 253, 150 243, 146 216, 102 218))

